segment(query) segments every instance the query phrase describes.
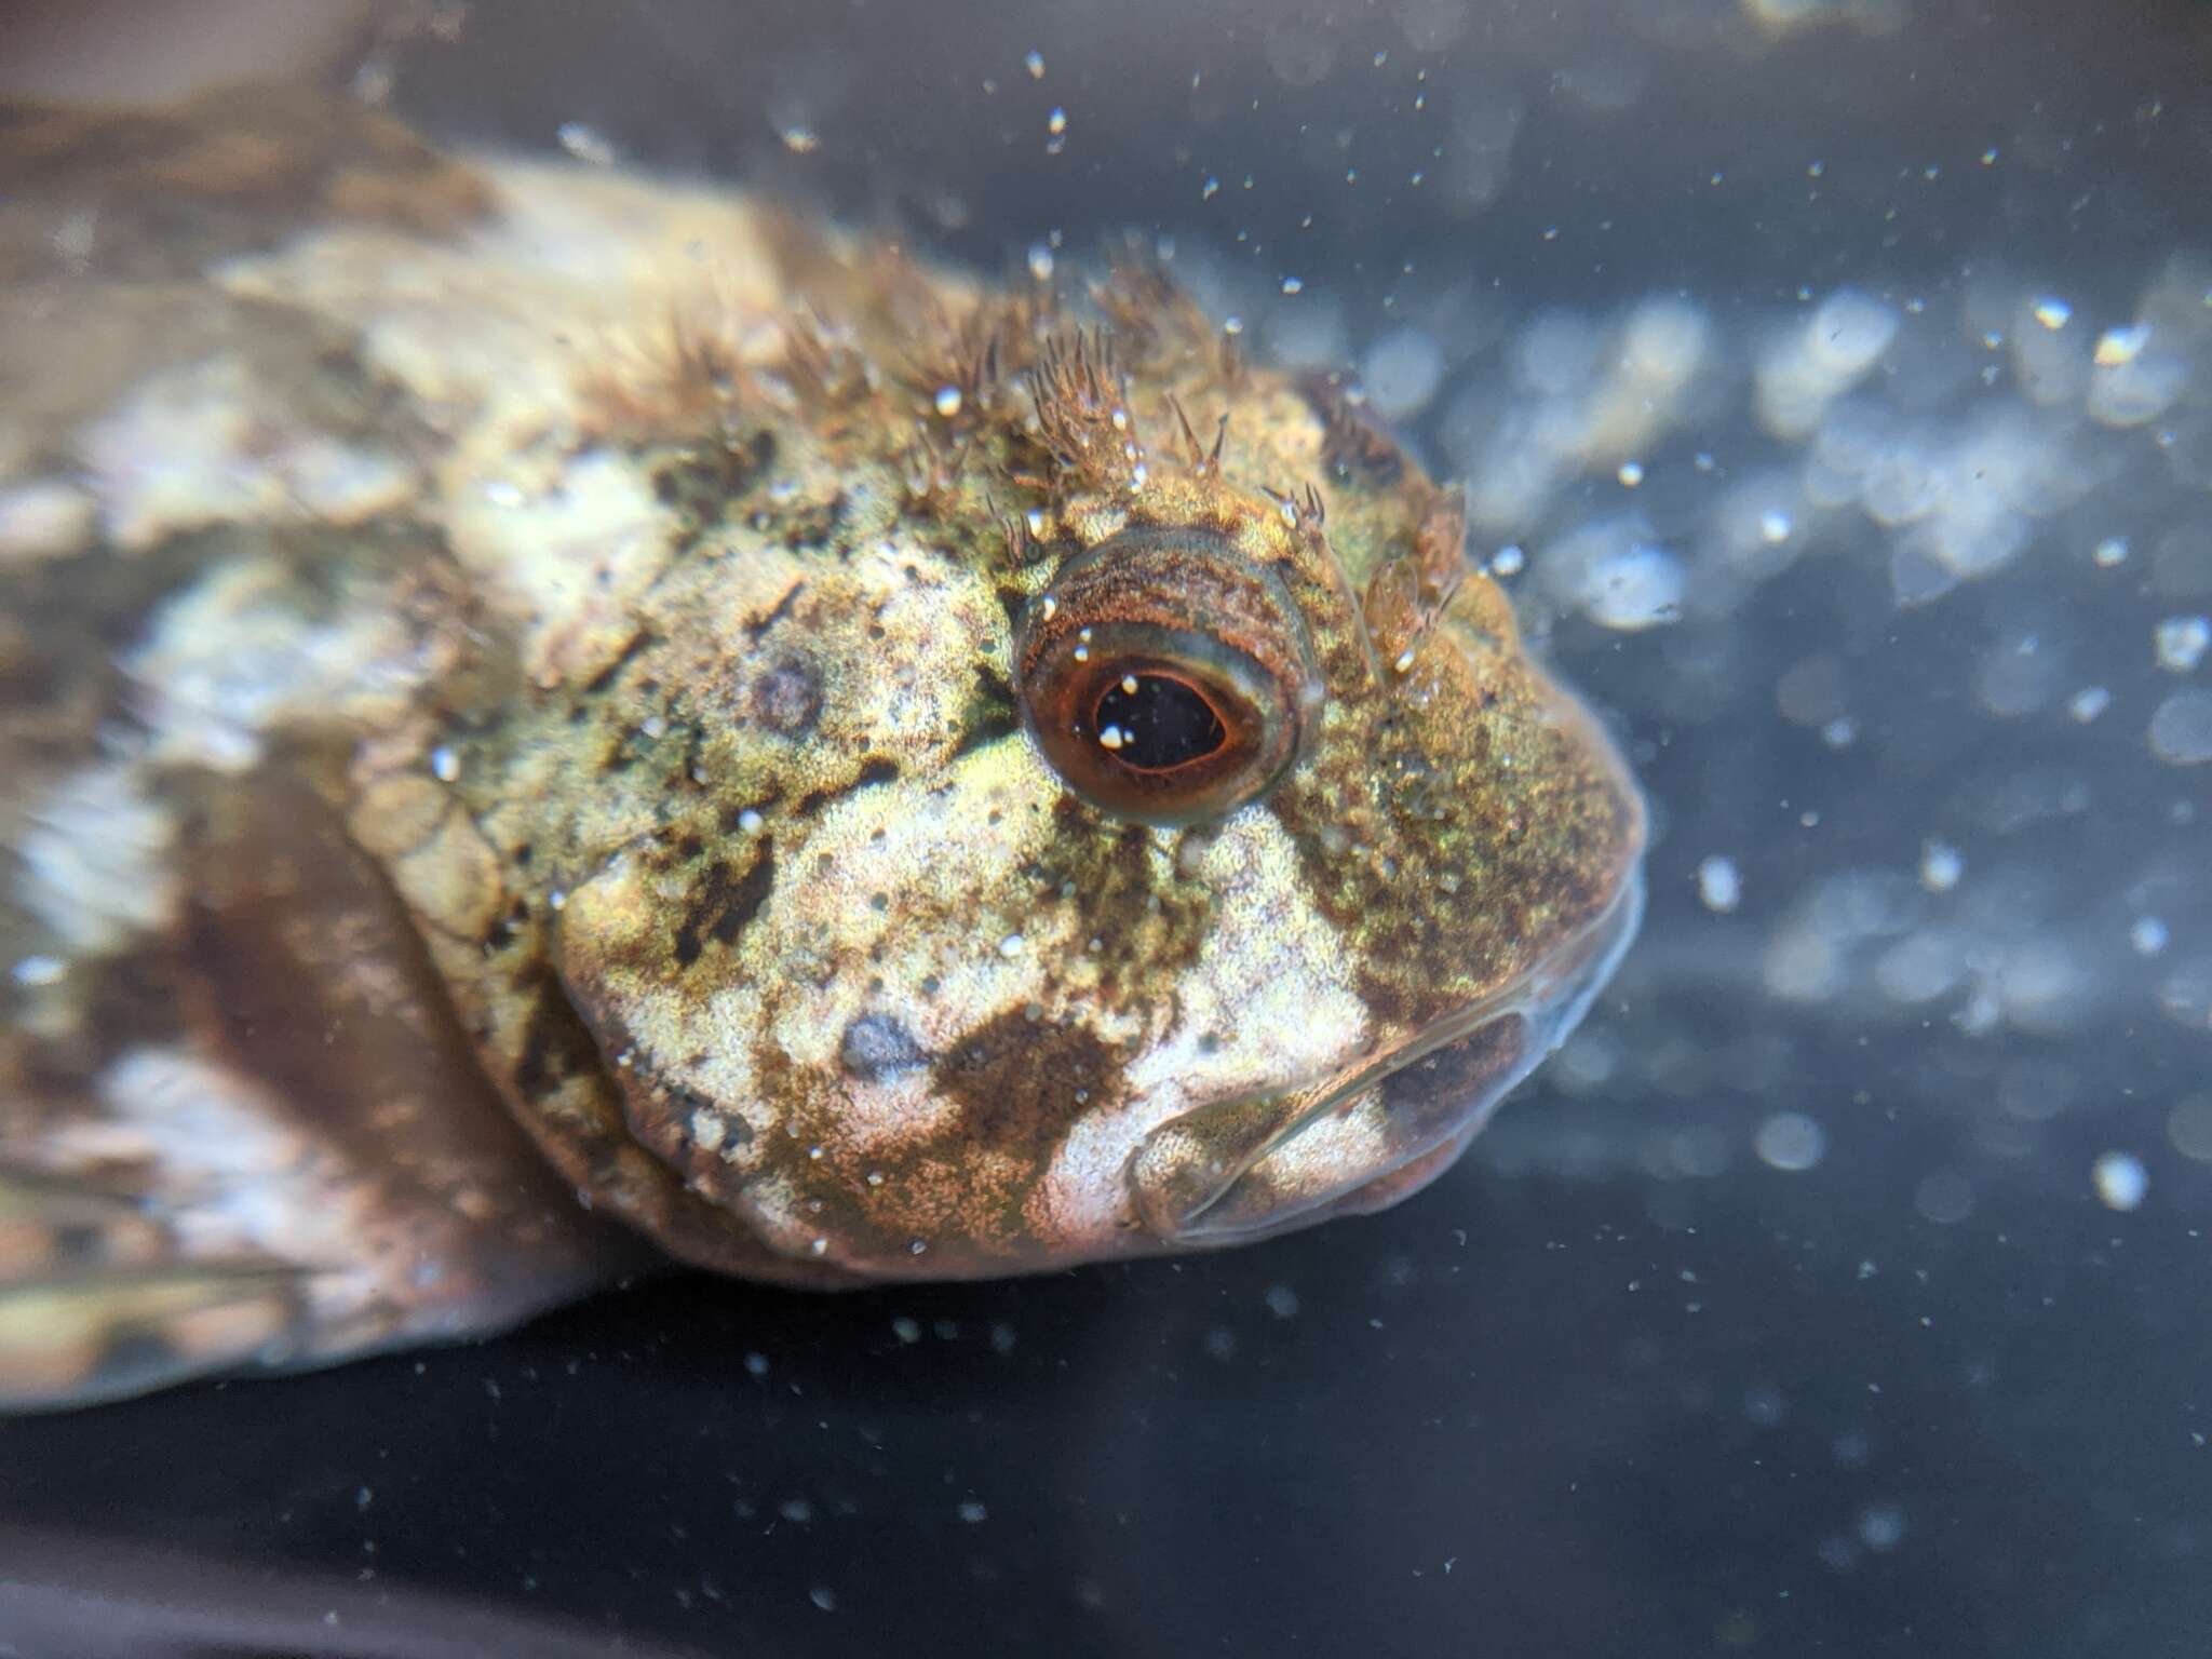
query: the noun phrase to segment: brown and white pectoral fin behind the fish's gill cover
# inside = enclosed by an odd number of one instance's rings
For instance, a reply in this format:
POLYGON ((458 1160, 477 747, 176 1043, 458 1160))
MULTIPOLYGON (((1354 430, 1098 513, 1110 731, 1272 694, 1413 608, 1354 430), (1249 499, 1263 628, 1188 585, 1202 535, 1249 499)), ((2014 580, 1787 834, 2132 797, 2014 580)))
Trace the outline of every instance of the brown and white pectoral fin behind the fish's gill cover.
POLYGON ((334 814, 288 781, 186 799, 175 933, 84 971, 133 1018, 0 1055, 0 1409, 498 1329, 637 1267, 334 814))

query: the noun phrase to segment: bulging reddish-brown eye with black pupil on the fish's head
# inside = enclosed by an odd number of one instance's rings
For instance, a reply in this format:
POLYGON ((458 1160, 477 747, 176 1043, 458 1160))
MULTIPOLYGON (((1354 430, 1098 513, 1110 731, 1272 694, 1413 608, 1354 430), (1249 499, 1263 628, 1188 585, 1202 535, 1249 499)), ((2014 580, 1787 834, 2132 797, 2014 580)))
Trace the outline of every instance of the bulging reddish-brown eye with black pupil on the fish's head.
POLYGON ((1321 712, 1281 580, 1199 529, 1075 555, 1015 641, 1022 719, 1053 770, 1137 823, 1219 818, 1274 785, 1321 712))

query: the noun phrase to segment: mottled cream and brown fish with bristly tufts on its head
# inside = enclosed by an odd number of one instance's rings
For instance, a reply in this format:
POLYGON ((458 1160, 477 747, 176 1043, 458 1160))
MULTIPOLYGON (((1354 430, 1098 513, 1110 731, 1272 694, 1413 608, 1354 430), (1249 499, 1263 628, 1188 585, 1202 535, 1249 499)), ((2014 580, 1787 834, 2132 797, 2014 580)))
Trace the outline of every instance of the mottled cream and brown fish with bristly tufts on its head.
POLYGON ((1460 498, 1155 263, 226 97, 0 117, 0 285, 13 1405, 1374 1210, 1635 931, 1460 498))

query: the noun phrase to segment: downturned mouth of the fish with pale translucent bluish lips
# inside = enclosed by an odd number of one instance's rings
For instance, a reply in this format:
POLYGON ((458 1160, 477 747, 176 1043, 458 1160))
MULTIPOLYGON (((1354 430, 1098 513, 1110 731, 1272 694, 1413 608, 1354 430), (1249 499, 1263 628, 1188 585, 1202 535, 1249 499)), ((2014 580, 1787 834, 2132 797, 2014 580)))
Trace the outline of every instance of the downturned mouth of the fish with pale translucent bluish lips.
POLYGON ((1498 991, 1312 1084, 1168 1119, 1128 1159, 1139 1223, 1228 1245, 1418 1192, 1582 1022, 1641 918, 1630 867, 1604 911, 1498 991))

